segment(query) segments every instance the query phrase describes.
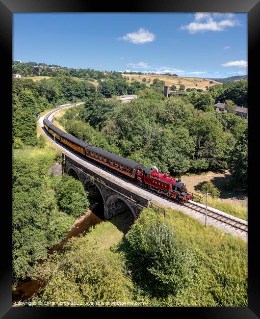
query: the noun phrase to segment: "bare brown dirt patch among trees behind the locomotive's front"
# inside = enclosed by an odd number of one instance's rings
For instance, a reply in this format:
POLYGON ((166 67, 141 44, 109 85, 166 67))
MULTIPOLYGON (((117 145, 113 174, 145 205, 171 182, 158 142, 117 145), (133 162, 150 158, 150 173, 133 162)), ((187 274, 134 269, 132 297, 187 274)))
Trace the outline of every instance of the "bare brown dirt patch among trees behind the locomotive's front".
POLYGON ((190 176, 182 176, 182 182, 186 184, 187 189, 190 191, 201 191, 201 186, 204 184, 204 182, 210 181, 221 191, 220 198, 223 199, 223 201, 247 206, 246 192, 235 192, 225 189, 224 185, 230 179, 231 175, 228 170, 224 171, 223 173, 206 172, 190 176))

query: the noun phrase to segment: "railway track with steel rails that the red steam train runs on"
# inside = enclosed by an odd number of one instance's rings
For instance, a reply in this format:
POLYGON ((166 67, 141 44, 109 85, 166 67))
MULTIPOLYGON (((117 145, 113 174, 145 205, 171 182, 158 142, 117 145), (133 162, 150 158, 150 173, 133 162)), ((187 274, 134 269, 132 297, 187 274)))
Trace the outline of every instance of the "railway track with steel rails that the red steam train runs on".
MULTIPOLYGON (((69 106, 75 106, 75 104, 69 105, 69 106)), ((52 110, 50 113, 47 113, 47 115, 45 116, 45 119, 48 119, 54 112, 57 111, 57 109, 61 109, 61 108, 65 108, 65 107, 69 107, 68 105, 66 106, 61 106, 61 107, 57 107, 56 109, 52 110)), ((52 135, 49 134, 47 131, 45 131, 45 133, 47 133, 51 138, 52 135)), ((53 138, 52 138, 53 140, 53 138)), ((112 169, 109 169, 107 166, 102 165, 100 163, 97 163, 95 160, 91 160, 91 159, 86 159, 85 157, 79 155, 78 153, 72 151, 70 148, 68 148, 67 146, 61 144, 59 141, 56 140, 56 143, 61 145, 62 147, 64 147, 65 149, 69 150, 70 152, 72 152, 73 154, 77 154, 77 156, 81 159, 81 160, 85 160, 90 162, 92 165, 95 165, 96 167, 102 168, 104 171, 108 172, 109 174, 112 174, 114 176, 116 176, 117 178, 121 179, 124 182, 130 183, 138 188, 144 189, 147 192, 156 195, 157 197, 160 197, 162 199, 165 199, 169 202, 173 202, 174 204, 178 205, 178 206, 185 206, 187 207, 189 210, 196 212, 196 213, 200 213, 200 214, 206 214, 206 206, 202 206, 203 204, 198 204, 196 202, 186 202, 184 204, 179 204, 177 201, 168 198, 166 196, 164 196, 163 194, 158 194, 155 190, 153 189, 149 189, 143 185, 141 185, 138 181, 132 181, 130 179, 128 179, 125 176, 122 176, 119 172, 114 171, 112 169)), ((213 218, 214 220, 217 220, 218 222, 222 223, 222 224, 226 224, 228 226, 230 226, 231 228, 235 229, 236 231, 239 231, 241 233, 246 233, 247 234, 247 222, 244 220, 241 220, 239 218, 236 218, 232 215, 229 215, 227 213, 222 213, 222 212, 217 212, 217 210, 212 210, 211 207, 208 208, 208 213, 207 213, 208 217, 213 218)))

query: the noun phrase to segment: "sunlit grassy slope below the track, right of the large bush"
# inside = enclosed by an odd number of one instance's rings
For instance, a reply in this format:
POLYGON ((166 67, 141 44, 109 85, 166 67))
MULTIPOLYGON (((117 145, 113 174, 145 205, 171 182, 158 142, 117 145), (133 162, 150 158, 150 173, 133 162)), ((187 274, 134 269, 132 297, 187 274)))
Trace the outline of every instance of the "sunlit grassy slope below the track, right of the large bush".
POLYGON ((192 285, 177 296, 178 306, 246 306, 247 243, 180 211, 169 210, 176 236, 197 256, 192 285), (188 304, 186 303, 188 300, 188 304))

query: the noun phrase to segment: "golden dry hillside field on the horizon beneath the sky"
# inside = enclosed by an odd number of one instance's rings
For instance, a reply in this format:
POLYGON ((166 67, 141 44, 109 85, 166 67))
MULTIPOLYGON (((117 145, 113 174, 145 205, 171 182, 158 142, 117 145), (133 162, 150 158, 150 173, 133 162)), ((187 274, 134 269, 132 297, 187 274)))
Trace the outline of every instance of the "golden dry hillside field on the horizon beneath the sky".
POLYGON ((123 77, 128 77, 128 82, 131 82, 131 79, 137 80, 139 82, 142 82, 143 79, 146 79, 146 84, 152 84, 153 80, 158 78, 159 80, 162 80, 165 82, 165 85, 172 86, 173 84, 176 85, 177 89, 179 89, 180 84, 185 85, 185 90, 187 88, 195 88, 195 89, 202 89, 206 91, 206 86, 210 87, 215 84, 221 84, 220 82, 213 81, 213 83, 209 83, 211 80, 208 79, 201 79, 201 78, 190 78, 190 77, 172 77, 168 75, 156 75, 156 74, 122 74, 123 77), (151 79, 151 82, 148 83, 148 80, 151 79), (181 81, 181 83, 179 82, 181 81), (197 85, 196 85, 197 84, 197 85))

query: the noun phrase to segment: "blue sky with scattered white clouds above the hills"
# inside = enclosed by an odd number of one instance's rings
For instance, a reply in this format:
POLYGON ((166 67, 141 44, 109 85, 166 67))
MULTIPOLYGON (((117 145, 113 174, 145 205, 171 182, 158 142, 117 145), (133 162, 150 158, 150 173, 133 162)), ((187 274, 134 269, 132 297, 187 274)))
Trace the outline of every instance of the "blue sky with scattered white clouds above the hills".
POLYGON ((247 13, 15 13, 13 60, 101 71, 247 74, 247 13))

